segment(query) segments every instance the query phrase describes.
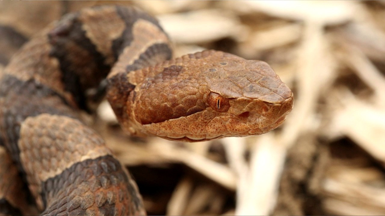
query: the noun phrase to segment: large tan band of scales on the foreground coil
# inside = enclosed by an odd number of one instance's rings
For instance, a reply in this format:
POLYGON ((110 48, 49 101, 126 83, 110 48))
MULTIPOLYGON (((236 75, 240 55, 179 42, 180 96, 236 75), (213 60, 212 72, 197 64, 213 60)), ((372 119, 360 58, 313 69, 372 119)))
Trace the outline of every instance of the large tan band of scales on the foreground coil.
POLYGON ((42 182, 80 161, 112 155, 99 135, 80 121, 49 114, 28 117, 22 123, 18 148, 29 188, 40 207, 42 182))

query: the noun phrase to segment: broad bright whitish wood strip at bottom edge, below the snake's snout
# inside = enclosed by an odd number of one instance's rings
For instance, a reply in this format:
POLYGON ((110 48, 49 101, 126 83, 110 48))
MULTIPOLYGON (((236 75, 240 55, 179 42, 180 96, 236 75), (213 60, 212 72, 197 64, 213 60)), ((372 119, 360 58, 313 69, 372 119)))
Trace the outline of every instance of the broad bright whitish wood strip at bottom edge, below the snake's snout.
POLYGON ((261 135, 254 143, 245 179, 238 186, 236 215, 267 215, 277 195, 286 146, 277 143, 273 133, 261 135), (263 176, 263 178, 261 178, 263 176))

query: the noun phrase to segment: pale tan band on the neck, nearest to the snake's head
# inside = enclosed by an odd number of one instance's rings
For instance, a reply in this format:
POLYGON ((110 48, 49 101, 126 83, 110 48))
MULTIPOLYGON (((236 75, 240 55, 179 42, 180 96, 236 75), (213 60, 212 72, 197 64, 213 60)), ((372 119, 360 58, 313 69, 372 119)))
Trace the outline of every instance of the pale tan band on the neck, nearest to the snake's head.
MULTIPOLYGON (((124 48, 122 54, 119 56, 119 60, 108 75, 108 78, 117 73, 125 72, 126 67, 132 65, 132 63, 152 45, 156 43, 170 44, 167 35, 154 23, 147 20, 139 19, 132 26, 132 36, 134 38, 133 41, 129 46, 124 48)), ((132 83, 134 85, 136 84, 134 80, 132 83)))

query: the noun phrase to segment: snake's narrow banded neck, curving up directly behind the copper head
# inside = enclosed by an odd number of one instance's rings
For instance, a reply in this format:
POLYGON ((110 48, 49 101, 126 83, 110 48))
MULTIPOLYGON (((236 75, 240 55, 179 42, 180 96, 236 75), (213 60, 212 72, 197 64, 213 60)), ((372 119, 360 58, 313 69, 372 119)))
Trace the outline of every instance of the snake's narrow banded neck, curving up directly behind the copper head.
POLYGON ((132 16, 119 12, 126 21, 126 29, 115 44, 121 44, 117 51, 118 59, 107 76, 107 100, 123 128, 130 134, 137 134, 133 129, 134 119, 130 115, 127 101, 135 98, 134 89, 146 77, 148 68, 172 58, 172 45, 159 23, 146 14, 134 23, 128 21, 132 16))

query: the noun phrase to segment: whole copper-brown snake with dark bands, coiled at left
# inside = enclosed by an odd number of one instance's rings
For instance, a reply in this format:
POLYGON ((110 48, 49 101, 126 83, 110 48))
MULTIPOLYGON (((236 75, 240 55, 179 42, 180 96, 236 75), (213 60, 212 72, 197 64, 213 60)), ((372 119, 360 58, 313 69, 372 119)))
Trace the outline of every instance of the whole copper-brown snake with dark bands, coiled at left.
POLYGON ((116 5, 66 14, 25 43, 0 73, 0 214, 146 214, 84 120, 103 96, 129 135, 189 142, 267 133, 293 107, 264 61, 172 53, 156 18, 116 5))

